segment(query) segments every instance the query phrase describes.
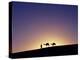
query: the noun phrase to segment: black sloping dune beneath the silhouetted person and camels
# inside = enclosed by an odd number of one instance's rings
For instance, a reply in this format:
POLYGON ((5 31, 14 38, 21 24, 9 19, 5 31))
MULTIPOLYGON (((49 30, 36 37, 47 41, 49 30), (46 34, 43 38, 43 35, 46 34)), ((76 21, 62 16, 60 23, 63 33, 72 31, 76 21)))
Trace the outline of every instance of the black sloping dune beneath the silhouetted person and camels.
POLYGON ((18 53, 10 53, 10 58, 31 58, 44 56, 59 56, 59 55, 76 55, 78 54, 78 44, 54 46, 31 51, 23 51, 18 53))

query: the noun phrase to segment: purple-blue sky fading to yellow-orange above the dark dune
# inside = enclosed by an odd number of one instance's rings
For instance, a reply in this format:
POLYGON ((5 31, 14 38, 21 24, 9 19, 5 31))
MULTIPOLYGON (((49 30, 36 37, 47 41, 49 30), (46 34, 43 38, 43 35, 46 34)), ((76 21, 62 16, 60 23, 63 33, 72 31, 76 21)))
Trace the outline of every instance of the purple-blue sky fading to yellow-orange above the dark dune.
POLYGON ((39 49, 46 42, 77 44, 77 6, 13 2, 12 52, 39 49))

